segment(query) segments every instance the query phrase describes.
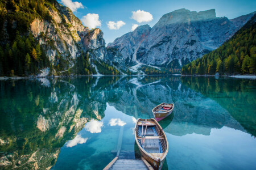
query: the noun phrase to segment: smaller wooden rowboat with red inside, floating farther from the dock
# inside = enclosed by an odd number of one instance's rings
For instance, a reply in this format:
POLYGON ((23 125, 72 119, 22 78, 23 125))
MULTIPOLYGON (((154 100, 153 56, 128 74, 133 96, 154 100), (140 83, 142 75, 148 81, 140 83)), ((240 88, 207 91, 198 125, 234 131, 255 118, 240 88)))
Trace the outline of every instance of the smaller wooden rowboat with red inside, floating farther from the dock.
POLYGON ((158 106, 156 106, 154 109, 152 109, 152 112, 154 114, 155 120, 160 121, 163 120, 163 118, 166 118, 172 113, 172 110, 174 109, 173 103, 161 103, 158 106))

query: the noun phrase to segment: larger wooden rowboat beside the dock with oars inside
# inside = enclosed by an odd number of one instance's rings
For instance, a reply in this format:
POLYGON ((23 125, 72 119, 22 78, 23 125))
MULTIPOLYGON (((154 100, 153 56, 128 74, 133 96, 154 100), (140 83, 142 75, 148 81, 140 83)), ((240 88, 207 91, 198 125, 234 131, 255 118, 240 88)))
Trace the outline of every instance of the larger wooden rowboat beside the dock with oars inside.
POLYGON ((169 149, 166 134, 154 118, 139 118, 135 125, 135 141, 144 159, 154 169, 161 169, 169 149))

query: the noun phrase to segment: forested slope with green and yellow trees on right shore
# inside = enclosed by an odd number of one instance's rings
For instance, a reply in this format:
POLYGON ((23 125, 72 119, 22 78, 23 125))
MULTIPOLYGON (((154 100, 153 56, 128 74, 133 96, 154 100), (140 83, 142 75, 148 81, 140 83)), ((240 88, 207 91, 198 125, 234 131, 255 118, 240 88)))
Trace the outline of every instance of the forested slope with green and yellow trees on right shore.
POLYGON ((183 66, 181 74, 255 74, 255 20, 256 15, 219 48, 183 66))

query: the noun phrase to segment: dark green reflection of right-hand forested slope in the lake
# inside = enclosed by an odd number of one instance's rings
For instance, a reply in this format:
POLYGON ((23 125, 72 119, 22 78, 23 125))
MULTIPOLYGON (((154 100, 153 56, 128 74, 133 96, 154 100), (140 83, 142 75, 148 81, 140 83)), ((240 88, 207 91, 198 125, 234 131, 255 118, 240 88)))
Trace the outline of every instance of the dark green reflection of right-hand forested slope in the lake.
MULTIPOLYGON (((256 82, 245 79, 182 77, 181 82, 212 99, 228 112, 247 133, 256 135, 256 82)), ((214 108, 212 108, 214 109, 214 108)), ((226 115, 226 114, 225 114, 226 115)), ((228 122, 229 123, 229 122, 228 122)), ((234 122, 235 123, 235 122, 234 122)), ((240 129, 236 124, 229 127, 240 129)))

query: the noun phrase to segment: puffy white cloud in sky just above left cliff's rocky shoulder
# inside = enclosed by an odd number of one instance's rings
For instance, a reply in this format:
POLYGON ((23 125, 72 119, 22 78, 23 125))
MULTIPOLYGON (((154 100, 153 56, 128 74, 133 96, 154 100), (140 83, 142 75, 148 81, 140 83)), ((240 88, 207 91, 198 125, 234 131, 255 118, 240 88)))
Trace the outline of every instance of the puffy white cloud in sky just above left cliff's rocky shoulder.
POLYGON ((87 14, 85 16, 82 16, 82 23, 85 25, 85 27, 88 27, 90 29, 100 27, 101 26, 101 20, 99 19, 98 14, 87 14))

